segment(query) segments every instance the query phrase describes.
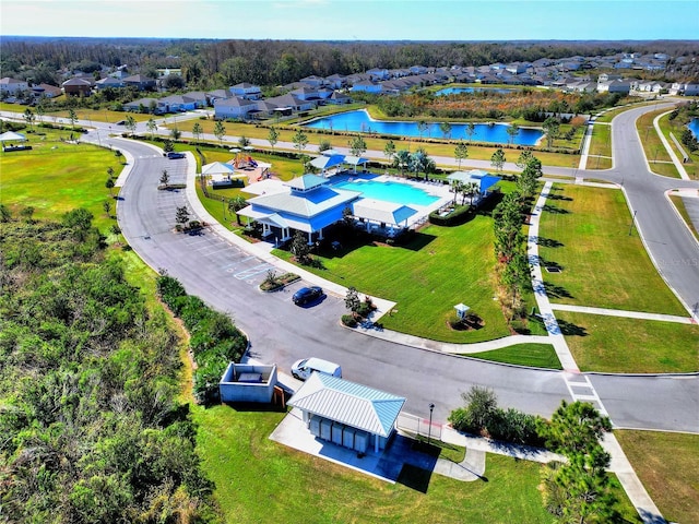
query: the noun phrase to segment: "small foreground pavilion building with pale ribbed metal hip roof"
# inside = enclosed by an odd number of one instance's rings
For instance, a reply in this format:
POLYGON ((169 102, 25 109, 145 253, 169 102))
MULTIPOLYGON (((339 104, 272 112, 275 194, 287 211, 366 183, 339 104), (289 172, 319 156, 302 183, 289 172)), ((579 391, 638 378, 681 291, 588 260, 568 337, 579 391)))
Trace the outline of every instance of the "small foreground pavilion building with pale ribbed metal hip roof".
POLYGON ((315 372, 288 404, 301 410, 304 421, 317 437, 366 451, 368 438, 372 436, 374 450, 378 453, 393 434, 405 398, 315 372))

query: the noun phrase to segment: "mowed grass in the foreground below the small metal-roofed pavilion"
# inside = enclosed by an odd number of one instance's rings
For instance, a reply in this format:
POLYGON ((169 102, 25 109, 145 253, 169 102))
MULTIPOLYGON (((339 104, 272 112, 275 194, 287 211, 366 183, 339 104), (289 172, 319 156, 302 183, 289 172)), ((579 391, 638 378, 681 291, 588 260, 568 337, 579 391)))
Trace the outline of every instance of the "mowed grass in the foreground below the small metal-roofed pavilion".
POLYGON ((224 522, 550 523, 537 463, 488 454, 485 480, 412 472, 426 492, 389 484, 269 439, 284 415, 192 407, 198 451, 224 522))

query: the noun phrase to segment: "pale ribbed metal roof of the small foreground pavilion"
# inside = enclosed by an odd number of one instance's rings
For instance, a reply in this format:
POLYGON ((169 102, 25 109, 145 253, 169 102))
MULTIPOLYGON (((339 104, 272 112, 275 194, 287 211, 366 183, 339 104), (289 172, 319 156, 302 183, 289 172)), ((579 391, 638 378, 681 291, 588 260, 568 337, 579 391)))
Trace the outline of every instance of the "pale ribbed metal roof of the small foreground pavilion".
POLYGON ((288 404, 372 434, 389 437, 405 398, 313 372, 288 404))

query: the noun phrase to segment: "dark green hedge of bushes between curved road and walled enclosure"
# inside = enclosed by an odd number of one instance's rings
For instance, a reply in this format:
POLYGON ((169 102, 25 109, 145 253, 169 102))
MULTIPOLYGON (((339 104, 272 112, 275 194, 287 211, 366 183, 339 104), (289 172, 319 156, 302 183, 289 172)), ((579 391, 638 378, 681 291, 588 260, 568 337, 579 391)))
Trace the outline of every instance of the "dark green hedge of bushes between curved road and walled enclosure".
POLYGON ((171 276, 157 278, 157 293, 191 334, 190 348, 197 362, 194 398, 199 404, 218 400, 218 381, 229 361, 239 362, 248 347, 247 337, 229 317, 211 309, 199 297, 187 295, 171 276))

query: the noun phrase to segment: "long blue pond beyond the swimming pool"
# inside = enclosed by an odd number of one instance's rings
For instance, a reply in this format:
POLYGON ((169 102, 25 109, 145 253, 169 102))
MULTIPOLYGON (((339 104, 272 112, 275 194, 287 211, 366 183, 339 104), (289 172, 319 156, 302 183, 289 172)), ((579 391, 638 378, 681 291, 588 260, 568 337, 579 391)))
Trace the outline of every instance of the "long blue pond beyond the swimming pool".
MULTIPOLYGON (((476 123, 473 136, 466 134, 466 124, 450 122, 451 133, 449 138, 453 140, 469 140, 475 142, 488 142, 493 144, 507 144, 510 139, 507 134, 507 123, 476 123)), ((374 120, 365 110, 340 112, 329 117, 319 118, 305 124, 306 128, 325 129, 344 132, 394 134, 398 136, 423 136, 442 139, 445 134, 439 129, 439 123, 429 123, 427 129, 422 131, 417 122, 374 120)), ((519 145, 535 145, 538 139, 544 135, 541 129, 520 128, 513 143, 519 145)))

